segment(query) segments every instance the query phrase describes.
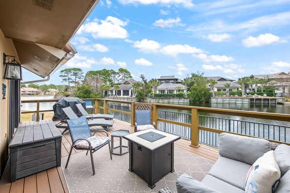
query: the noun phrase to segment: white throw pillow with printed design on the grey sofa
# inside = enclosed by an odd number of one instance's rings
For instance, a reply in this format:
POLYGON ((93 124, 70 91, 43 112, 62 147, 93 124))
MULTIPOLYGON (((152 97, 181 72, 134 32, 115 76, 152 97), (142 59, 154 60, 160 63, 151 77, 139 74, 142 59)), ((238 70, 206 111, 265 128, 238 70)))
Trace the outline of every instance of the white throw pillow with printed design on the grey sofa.
POLYGON ((281 172, 274 151, 268 151, 249 169, 246 177, 246 193, 274 193, 281 172))

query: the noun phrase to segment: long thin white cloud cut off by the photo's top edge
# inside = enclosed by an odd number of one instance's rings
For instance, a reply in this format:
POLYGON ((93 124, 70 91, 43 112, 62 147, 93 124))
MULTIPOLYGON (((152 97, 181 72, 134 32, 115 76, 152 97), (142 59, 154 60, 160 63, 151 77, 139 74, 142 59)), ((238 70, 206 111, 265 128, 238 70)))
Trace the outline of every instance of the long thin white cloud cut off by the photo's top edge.
POLYGON ((178 5, 181 4, 185 8, 191 8, 194 6, 192 0, 118 0, 121 4, 162 4, 162 5, 178 5))

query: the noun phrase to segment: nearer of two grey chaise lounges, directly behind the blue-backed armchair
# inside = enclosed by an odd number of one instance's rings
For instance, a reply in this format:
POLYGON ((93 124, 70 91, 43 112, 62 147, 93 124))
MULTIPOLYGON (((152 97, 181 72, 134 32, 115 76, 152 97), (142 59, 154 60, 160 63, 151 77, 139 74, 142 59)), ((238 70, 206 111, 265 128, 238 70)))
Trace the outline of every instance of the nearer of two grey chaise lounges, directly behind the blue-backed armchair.
MULTIPOLYGON (((78 118, 78 116, 75 114, 75 112, 71 109, 70 106, 63 108, 63 111, 68 119, 77 119, 78 118)), ((113 127, 113 120, 89 120, 88 124, 89 124, 89 127, 101 126, 106 131, 108 131, 108 127, 113 127)), ((64 130, 64 132, 66 132, 67 130, 68 130, 68 128, 66 128, 64 130)), ((63 132, 63 134, 64 134, 64 132, 63 132)))

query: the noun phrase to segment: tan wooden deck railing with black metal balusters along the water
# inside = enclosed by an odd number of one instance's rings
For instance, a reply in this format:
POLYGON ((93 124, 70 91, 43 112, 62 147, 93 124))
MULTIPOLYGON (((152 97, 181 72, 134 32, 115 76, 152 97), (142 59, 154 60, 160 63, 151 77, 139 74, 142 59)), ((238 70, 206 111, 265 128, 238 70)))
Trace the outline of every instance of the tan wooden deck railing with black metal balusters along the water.
MULTIPOLYGON (((114 114, 117 119, 130 122, 131 126, 134 126, 135 102, 108 99, 89 100, 95 103, 95 112, 114 114)), ((36 111, 24 111, 21 113, 36 113, 36 120, 39 120, 39 113, 52 111, 52 109, 40 110, 40 104, 56 101, 22 101, 21 103, 36 103, 37 105, 36 111)), ((156 129, 187 138, 191 140, 191 146, 193 147, 198 147, 199 143, 217 147, 218 136, 223 132, 251 135, 253 137, 266 138, 271 142, 290 145, 290 124, 282 126, 218 117, 218 115, 229 115, 290 122, 290 115, 172 104, 152 104, 152 106, 152 119, 157 123, 156 129), (174 112, 180 110, 189 113, 174 112), (217 114, 217 117, 200 115, 202 113, 217 114)))

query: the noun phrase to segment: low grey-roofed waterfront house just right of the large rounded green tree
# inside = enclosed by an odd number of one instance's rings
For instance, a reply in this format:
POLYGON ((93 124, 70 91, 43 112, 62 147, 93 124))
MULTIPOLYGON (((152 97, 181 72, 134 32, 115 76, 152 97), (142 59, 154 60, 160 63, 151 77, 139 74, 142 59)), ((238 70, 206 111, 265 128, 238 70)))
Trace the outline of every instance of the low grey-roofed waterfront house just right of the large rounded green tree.
MULTIPOLYGON (((214 91, 226 91, 226 87, 224 86, 224 84, 226 84, 226 83, 231 84, 231 88, 229 89, 229 91, 237 91, 241 87, 241 85, 234 82, 235 80, 232 80, 230 78, 223 78, 221 76, 208 76, 206 78, 208 80, 212 79, 212 80, 217 81, 217 84, 214 85, 214 91)), ((209 84, 207 85, 207 88, 210 89, 209 84)))

